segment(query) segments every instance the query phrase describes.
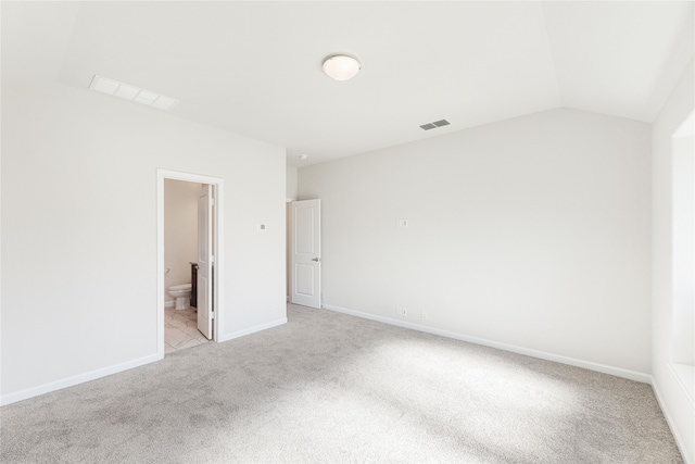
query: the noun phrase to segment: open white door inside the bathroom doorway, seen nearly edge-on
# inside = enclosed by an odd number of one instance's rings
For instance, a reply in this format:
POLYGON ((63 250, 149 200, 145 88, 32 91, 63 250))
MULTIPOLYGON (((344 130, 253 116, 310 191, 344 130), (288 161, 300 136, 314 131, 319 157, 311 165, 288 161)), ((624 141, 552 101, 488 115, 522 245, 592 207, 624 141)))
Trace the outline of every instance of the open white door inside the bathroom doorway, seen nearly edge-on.
POLYGON ((198 329, 213 338, 213 186, 198 200, 198 329))

